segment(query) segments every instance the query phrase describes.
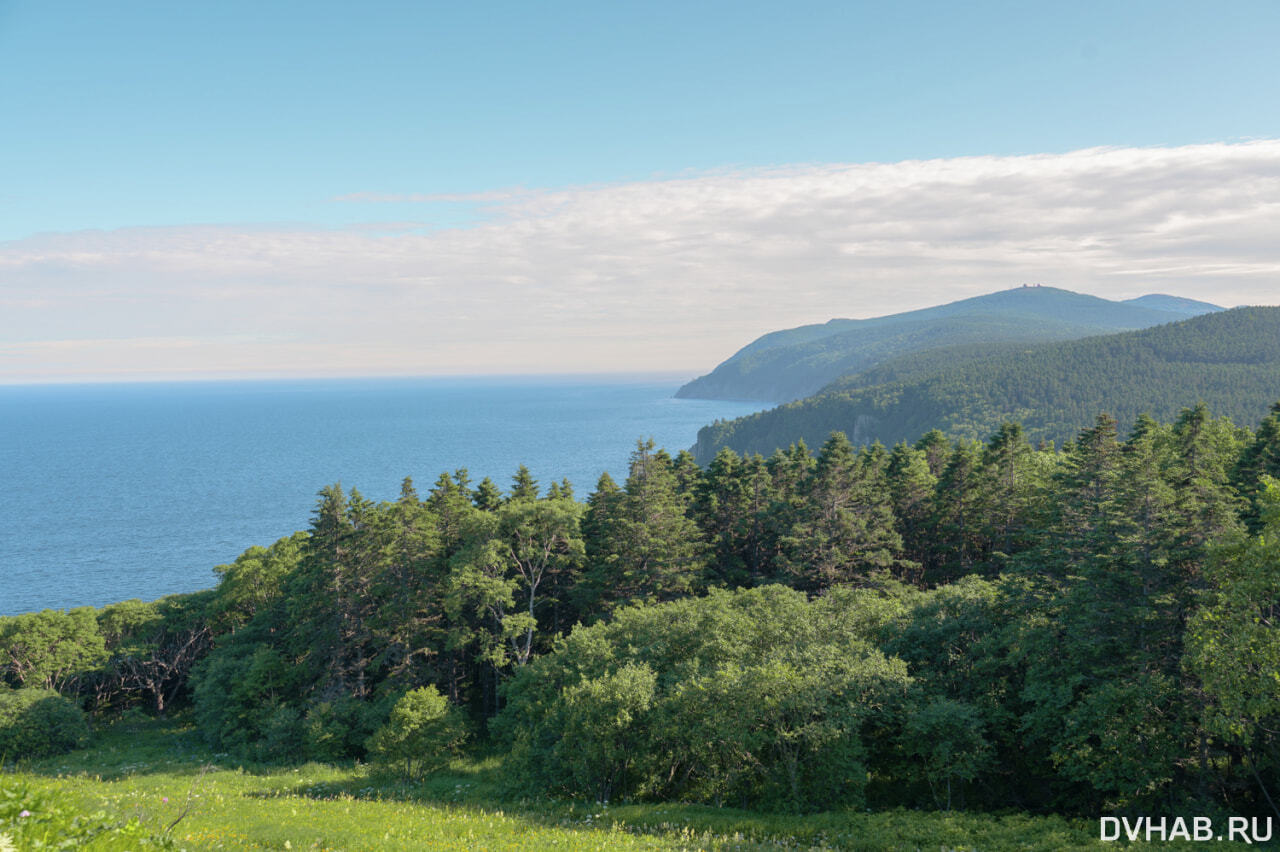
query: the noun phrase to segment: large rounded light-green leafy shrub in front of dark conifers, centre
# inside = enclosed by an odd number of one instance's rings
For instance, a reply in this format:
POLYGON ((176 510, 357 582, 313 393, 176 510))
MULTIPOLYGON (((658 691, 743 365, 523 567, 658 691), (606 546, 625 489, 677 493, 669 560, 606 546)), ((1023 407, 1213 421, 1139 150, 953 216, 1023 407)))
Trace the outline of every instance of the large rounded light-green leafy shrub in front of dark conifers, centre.
POLYGON ((859 806, 867 737, 910 683, 865 638, 891 609, 780 586, 627 606, 520 669, 493 729, 532 791, 859 806))

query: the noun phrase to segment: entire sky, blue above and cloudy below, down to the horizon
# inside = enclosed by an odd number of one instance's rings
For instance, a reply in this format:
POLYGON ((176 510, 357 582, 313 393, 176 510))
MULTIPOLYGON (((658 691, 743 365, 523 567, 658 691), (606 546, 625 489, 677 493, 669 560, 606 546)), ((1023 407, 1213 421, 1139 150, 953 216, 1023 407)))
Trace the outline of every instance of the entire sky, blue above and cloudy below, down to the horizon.
POLYGON ((0 383, 1280 302, 1280 4, 0 0, 0 383))

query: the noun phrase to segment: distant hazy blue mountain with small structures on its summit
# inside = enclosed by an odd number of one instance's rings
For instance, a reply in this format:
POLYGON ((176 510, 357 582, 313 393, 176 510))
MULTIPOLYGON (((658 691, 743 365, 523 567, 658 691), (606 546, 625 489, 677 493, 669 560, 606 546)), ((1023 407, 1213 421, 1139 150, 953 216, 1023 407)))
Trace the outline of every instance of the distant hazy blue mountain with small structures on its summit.
POLYGON ((1074 340, 1220 310, 1171 296, 1111 302, 1052 287, 1020 287, 920 311, 773 331, 676 395, 788 402, 841 376, 938 347, 1074 340))

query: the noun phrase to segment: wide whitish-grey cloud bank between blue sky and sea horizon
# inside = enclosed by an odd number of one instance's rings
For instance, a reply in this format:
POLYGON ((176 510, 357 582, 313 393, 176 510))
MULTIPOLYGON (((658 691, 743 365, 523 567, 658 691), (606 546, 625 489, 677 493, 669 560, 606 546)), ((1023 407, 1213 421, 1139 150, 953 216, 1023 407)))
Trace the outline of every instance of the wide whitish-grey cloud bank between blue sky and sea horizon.
POLYGON ((348 198, 486 217, 0 243, 0 381, 694 374, 768 330, 1032 281, 1280 302, 1280 141, 348 198))

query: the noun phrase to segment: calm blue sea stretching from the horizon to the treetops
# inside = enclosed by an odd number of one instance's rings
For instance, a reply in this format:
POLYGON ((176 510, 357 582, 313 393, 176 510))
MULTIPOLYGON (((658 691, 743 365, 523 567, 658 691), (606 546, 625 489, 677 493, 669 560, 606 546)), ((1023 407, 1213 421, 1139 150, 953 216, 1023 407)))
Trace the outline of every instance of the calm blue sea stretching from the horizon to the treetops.
POLYGON ((207 588, 214 565, 306 528, 332 482, 375 500, 521 463, 579 498, 641 438, 671 452, 753 403, 654 377, 0 386, 0 614, 207 588))

